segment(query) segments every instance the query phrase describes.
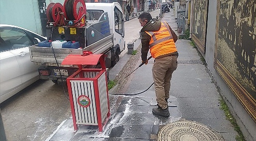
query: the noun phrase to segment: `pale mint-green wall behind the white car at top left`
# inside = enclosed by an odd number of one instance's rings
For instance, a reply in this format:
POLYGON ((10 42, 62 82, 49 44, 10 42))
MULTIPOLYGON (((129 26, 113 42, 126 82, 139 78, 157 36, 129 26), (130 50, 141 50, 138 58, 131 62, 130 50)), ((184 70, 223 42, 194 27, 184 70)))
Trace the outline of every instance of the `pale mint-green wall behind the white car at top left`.
MULTIPOLYGON (((64 4, 64 0, 46 0, 64 4)), ((23 27, 42 35, 38 0, 0 0, 0 24, 23 27)))

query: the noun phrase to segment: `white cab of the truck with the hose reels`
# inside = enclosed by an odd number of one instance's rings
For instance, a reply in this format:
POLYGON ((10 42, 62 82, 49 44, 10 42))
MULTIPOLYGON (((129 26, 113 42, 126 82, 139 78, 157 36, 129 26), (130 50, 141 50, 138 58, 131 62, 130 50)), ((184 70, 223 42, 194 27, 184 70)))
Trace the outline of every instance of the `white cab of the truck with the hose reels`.
POLYGON ((109 29, 110 33, 113 34, 113 51, 112 54, 112 65, 119 60, 119 54, 124 50, 124 15, 122 13, 122 7, 118 2, 113 3, 86 3, 86 21, 93 22, 98 20, 98 17, 108 12, 109 16, 109 29))

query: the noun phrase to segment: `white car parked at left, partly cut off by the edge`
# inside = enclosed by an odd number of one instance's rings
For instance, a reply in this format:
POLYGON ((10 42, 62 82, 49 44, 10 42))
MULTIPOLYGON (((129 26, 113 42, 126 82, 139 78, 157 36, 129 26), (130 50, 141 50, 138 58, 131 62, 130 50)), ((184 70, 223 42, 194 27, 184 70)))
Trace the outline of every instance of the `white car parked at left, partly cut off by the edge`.
POLYGON ((45 40, 21 27, 0 24, 0 103, 39 79, 28 46, 45 40))

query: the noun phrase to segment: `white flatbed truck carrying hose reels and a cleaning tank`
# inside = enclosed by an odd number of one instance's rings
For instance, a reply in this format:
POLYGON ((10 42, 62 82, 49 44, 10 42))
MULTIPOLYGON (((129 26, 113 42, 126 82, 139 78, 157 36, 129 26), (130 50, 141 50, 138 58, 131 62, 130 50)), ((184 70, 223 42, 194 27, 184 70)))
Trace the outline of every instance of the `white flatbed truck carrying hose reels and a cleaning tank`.
POLYGON ((52 41, 78 40, 82 45, 80 49, 29 47, 31 61, 40 65, 38 72, 41 79, 50 79, 54 83, 59 83, 77 71, 78 67, 75 65, 61 65, 69 54, 83 54, 84 51, 106 54, 107 68, 119 61, 119 54, 125 47, 124 15, 121 5, 117 2, 85 3, 85 5, 86 24, 83 28, 50 27, 47 34, 48 40, 52 41))

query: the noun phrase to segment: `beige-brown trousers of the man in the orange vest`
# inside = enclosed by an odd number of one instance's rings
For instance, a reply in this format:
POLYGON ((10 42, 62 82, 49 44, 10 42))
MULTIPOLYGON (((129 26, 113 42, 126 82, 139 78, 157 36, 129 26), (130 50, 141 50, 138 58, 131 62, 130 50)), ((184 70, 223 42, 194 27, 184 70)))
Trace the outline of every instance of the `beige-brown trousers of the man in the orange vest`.
POLYGON ((168 107, 165 99, 169 99, 172 74, 177 69, 178 64, 177 57, 178 56, 166 56, 157 58, 152 67, 156 101, 158 106, 162 109, 168 107))

